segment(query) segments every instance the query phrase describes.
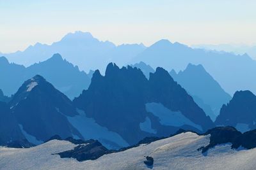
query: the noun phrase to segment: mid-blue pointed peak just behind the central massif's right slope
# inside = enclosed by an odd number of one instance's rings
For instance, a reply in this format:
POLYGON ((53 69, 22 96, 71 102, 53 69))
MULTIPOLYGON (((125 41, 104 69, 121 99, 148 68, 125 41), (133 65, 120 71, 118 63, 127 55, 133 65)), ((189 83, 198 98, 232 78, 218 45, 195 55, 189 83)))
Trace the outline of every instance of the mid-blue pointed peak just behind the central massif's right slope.
POLYGON ((231 96, 205 71, 202 65, 188 64, 184 71, 179 71, 177 74, 172 70, 170 74, 193 96, 198 106, 203 108, 212 120, 219 115, 221 106, 227 104, 231 99, 231 96))

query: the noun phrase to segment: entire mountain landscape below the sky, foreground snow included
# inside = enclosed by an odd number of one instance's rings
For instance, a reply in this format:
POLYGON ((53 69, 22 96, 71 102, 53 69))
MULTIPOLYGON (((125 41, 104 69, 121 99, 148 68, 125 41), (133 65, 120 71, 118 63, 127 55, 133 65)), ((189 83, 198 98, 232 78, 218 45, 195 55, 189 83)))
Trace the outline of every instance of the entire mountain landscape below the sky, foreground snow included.
POLYGON ((255 167, 246 54, 166 39, 116 46, 77 31, 3 55, 0 169, 255 167))

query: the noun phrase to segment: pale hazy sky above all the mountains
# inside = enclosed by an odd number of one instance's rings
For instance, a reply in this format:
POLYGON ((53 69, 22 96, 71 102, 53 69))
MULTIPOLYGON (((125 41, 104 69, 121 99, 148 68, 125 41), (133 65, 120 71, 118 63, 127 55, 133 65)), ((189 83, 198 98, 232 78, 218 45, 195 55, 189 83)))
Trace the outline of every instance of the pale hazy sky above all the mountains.
POLYGON ((151 45, 256 43, 255 0, 0 0, 0 52, 51 44, 67 32, 151 45))

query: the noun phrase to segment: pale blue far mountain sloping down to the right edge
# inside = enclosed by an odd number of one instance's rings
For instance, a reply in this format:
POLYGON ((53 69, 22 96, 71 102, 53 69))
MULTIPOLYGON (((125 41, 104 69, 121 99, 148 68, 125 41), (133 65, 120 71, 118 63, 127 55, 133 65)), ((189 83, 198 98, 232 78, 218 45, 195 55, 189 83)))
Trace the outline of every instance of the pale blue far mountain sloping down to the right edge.
POLYGON ((138 54, 131 63, 143 61, 154 69, 184 70, 189 63, 202 64, 214 80, 229 94, 236 90, 256 92, 256 61, 248 55, 213 52, 189 48, 180 43, 162 39, 138 54))

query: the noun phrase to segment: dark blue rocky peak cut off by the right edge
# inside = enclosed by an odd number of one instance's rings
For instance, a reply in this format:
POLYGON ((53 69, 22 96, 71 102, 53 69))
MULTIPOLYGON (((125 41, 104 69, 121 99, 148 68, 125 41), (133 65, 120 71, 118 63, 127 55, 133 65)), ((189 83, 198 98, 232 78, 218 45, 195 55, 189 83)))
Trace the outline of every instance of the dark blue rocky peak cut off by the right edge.
POLYGON ((223 105, 216 125, 232 125, 241 132, 256 128, 256 96, 246 90, 237 91, 227 105, 223 105))

